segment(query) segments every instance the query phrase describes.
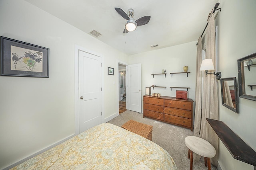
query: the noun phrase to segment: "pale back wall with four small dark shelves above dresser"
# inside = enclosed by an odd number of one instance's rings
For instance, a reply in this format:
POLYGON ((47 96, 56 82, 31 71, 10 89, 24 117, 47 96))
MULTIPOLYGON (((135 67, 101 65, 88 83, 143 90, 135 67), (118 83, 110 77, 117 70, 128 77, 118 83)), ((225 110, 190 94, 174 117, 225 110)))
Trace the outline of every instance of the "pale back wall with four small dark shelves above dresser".
MULTIPOLYGON (((195 86, 196 86, 196 41, 167 47, 164 49, 157 49, 145 53, 139 53, 129 56, 129 64, 141 63, 142 74, 142 96, 146 93, 146 87, 153 84, 156 86, 166 86, 164 88, 151 88, 152 93, 160 93, 161 96, 176 96, 176 89, 173 87, 190 87, 188 89, 188 97, 194 100, 195 86), (173 74, 170 72, 184 72, 183 66, 188 66, 188 74, 173 74), (166 70, 166 78, 164 75, 153 75, 162 73, 162 69, 166 70)), ((143 98, 142 98, 143 100, 143 98)), ((142 104, 143 106, 143 104, 142 104)))

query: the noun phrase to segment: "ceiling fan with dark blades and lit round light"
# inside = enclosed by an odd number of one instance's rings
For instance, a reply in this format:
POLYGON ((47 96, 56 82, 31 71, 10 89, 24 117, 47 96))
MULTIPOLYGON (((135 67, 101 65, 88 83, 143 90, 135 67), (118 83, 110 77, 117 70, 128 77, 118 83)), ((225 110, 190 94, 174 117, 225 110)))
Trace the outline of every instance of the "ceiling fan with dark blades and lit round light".
POLYGON ((128 33, 129 31, 134 31, 136 29, 137 26, 140 25, 145 25, 149 22, 150 20, 150 16, 144 16, 142 18, 139 18, 138 20, 134 20, 133 15, 134 15, 134 10, 132 8, 130 8, 127 11, 127 14, 121 9, 121 8, 115 8, 116 12, 122 16, 124 19, 126 19, 126 24, 125 24, 125 28, 124 28, 124 32, 123 33, 128 33))

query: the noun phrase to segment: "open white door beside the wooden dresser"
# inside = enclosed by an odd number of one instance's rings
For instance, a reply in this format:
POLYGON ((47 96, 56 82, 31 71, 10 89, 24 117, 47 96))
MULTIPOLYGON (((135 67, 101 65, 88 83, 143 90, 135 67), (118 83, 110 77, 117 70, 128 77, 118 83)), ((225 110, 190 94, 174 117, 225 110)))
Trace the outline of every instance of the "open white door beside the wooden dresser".
POLYGON ((141 113, 141 64, 126 66, 126 109, 141 113))

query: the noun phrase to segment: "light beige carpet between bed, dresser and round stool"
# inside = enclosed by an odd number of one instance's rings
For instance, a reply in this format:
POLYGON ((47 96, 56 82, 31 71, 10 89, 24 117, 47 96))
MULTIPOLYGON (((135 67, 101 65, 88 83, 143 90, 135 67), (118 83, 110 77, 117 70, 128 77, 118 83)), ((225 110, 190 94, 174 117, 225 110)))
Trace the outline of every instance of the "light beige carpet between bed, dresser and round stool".
MULTIPOLYGON (((188 148, 184 143, 184 139, 187 136, 193 135, 190 129, 171 125, 161 121, 156 121, 149 118, 143 118, 142 113, 127 110, 114 119, 108 121, 119 127, 130 119, 145 123, 153 126, 152 141, 158 144, 160 147, 165 149, 174 159, 178 170, 189 170, 190 159, 188 159, 188 148)), ((208 170, 204 166, 204 161, 196 160, 193 161, 193 170, 208 170)), ((212 170, 217 170, 212 165, 212 170)))

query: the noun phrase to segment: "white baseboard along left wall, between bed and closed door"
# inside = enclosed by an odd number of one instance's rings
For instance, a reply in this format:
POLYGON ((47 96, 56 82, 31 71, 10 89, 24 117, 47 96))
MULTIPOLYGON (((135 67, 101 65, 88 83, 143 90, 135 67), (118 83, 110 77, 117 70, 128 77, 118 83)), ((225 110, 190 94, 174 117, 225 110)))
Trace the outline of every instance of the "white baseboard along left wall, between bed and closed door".
POLYGON ((61 140, 61 141, 59 141, 59 142, 57 142, 57 143, 55 143, 55 144, 53 144, 53 145, 43 149, 43 150, 40 150, 39 152, 36 152, 36 153, 26 157, 26 158, 23 158, 22 160, 19 160, 18 162, 14 163, 14 164, 8 165, 6 168, 4 168, 2 170, 9 170, 10 168, 13 168, 14 166, 17 166, 17 165, 21 164, 22 162, 25 162, 26 160, 29 160, 29 159, 33 158, 34 156, 36 156, 38 154, 41 154, 41 153, 45 152, 46 150, 49 150, 49 149, 51 149, 51 148, 53 148, 53 147, 55 147, 55 146, 65 142, 66 140, 68 140, 68 139, 70 139, 70 138, 72 138, 74 136, 76 136, 76 135, 75 134, 71 135, 71 136, 67 137, 66 139, 63 139, 63 140, 61 140))

